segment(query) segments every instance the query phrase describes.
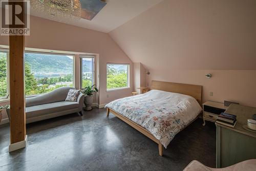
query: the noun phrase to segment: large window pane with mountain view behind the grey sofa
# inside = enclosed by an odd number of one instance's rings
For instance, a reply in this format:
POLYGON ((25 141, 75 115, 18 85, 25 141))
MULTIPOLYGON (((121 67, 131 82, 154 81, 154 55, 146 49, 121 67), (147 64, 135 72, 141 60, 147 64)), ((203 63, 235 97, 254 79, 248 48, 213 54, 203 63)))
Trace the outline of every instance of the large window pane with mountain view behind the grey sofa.
POLYGON ((59 87, 73 87, 73 56, 25 53, 25 94, 50 92, 59 87))

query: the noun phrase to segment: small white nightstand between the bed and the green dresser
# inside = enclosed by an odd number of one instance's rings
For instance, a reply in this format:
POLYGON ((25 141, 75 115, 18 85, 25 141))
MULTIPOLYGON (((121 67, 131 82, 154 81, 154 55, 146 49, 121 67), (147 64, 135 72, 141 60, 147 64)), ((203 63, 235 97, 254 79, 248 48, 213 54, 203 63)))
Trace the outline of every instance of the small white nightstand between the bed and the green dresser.
POLYGON ((205 120, 215 122, 217 116, 222 112, 225 112, 228 107, 224 106, 224 103, 207 101, 203 103, 203 126, 205 125, 205 120))

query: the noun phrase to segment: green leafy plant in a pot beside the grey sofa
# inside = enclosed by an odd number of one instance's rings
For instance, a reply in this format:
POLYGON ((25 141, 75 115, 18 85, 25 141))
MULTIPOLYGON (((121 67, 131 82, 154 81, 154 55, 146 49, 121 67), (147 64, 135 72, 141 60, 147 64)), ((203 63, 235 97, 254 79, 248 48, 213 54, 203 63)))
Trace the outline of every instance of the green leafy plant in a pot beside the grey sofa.
POLYGON ((96 84, 94 84, 92 87, 90 86, 85 87, 82 91, 82 93, 85 95, 84 104, 86 105, 86 111, 92 110, 93 92, 98 92, 98 89, 96 88, 96 84))

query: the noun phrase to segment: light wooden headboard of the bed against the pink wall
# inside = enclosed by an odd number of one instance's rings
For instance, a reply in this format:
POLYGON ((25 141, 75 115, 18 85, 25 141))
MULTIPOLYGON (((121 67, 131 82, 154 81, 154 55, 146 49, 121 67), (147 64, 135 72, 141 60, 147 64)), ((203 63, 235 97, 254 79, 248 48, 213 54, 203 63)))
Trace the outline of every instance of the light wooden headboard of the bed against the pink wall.
POLYGON ((152 80, 151 89, 189 95, 194 97, 200 105, 202 102, 202 86, 152 80))

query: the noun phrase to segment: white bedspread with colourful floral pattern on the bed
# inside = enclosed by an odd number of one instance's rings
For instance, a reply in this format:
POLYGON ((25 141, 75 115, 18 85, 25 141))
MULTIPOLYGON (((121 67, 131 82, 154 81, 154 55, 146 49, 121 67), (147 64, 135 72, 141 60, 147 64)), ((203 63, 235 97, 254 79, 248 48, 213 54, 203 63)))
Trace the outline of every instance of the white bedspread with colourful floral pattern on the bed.
POLYGON ((141 125, 160 140, 165 148, 202 111, 195 98, 160 90, 117 99, 106 104, 105 108, 141 125))

